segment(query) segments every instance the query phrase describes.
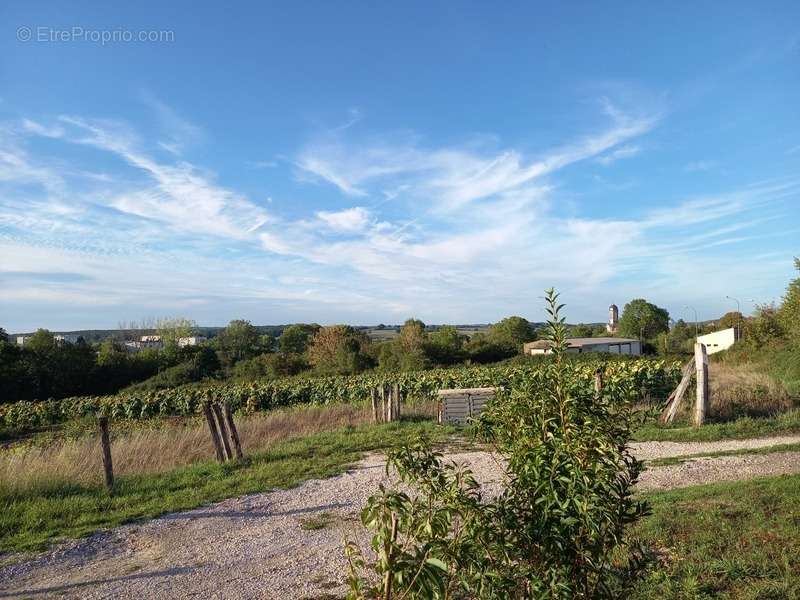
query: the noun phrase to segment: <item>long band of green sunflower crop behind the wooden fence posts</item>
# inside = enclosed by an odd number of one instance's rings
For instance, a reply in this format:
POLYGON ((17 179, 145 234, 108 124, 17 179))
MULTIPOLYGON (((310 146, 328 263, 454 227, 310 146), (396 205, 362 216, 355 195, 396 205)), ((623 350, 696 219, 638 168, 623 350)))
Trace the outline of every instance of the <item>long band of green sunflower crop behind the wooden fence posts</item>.
MULTIPOLYGON (((605 386, 631 378, 643 395, 663 398, 677 384, 678 363, 638 359, 598 359, 568 367, 575 378, 593 385, 594 372, 604 371, 605 386)), ((434 369, 385 374, 369 372, 343 377, 287 377, 252 383, 216 383, 180 386, 157 391, 134 391, 113 396, 81 396, 62 400, 20 401, 0 405, 0 426, 25 429, 62 423, 70 419, 104 413, 112 418, 139 419, 166 415, 197 414, 203 399, 211 393, 226 400, 234 410, 247 413, 296 404, 333 404, 366 401, 370 390, 383 383, 399 383, 409 400, 427 400, 443 388, 513 388, 541 376, 538 365, 495 365, 434 369)))

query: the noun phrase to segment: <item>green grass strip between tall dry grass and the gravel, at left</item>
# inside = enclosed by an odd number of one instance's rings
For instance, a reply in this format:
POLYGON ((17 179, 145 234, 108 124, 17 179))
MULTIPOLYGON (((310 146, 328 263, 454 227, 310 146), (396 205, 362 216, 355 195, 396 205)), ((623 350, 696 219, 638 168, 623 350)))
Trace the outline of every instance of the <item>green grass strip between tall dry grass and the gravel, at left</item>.
POLYGON ((99 484, 64 480, 41 481, 24 490, 0 488, 0 552, 38 550, 59 538, 331 477, 364 452, 403 444, 420 433, 441 442, 454 431, 413 420, 346 427, 282 441, 236 463, 199 462, 123 476, 110 494, 99 484))

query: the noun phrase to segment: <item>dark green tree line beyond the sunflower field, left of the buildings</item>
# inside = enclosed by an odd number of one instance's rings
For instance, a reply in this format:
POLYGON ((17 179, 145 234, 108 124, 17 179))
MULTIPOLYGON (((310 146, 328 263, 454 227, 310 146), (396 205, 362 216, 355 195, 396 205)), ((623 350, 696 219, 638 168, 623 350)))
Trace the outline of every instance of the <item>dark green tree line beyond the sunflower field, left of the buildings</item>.
POLYGON ((46 329, 18 346, 0 328, 0 403, 169 388, 205 379, 489 363, 514 356, 522 344, 536 338, 533 324, 521 317, 503 319, 472 338, 452 326, 428 332, 424 323, 409 319, 395 339, 384 342, 373 342, 349 325, 300 323, 285 327, 276 337, 249 321, 234 320, 214 338, 180 347, 178 340, 195 331, 196 325, 187 319, 164 320, 155 328, 162 348, 130 352, 118 339, 87 343, 79 338, 73 344, 46 329))

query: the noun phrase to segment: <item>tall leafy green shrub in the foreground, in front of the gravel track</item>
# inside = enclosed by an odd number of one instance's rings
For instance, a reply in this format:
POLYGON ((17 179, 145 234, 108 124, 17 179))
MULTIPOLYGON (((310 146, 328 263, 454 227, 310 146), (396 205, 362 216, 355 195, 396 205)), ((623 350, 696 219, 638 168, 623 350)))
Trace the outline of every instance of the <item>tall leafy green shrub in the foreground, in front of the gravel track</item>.
POLYGON ((469 469, 424 441, 390 454, 414 493, 381 486, 368 500, 377 561, 347 544, 351 598, 624 597, 643 572, 646 553, 625 538, 648 512, 632 497, 641 464, 627 447, 638 390, 598 396, 574 378, 557 297, 548 292, 555 360, 477 423, 503 459, 505 489, 484 497, 469 469))

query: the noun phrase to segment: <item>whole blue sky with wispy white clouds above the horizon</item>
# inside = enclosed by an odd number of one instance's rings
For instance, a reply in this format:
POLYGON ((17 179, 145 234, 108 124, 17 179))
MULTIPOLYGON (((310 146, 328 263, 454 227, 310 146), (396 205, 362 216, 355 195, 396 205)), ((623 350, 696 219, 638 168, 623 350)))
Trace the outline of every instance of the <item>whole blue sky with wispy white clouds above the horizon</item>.
POLYGON ((749 312, 800 254, 799 20, 5 2, 0 326, 749 312))

